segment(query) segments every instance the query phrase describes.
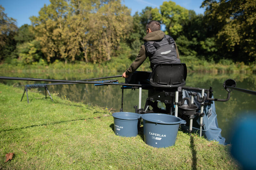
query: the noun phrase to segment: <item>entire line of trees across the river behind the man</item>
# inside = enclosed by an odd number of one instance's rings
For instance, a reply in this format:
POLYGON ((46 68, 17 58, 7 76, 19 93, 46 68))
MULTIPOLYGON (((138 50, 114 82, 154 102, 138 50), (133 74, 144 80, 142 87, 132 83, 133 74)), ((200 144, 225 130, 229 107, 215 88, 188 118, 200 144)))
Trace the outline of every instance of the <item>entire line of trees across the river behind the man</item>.
POLYGON ((1 7, 0 61, 18 65, 56 60, 105 65, 122 55, 130 62, 143 44, 146 24, 153 19, 175 39, 181 58, 255 64, 254 0, 205 0, 204 15, 169 1, 159 8, 146 7, 134 16, 120 0, 50 2, 41 8, 38 17, 30 17, 32 25, 19 29, 1 7), (124 49, 125 53, 120 54, 124 49))

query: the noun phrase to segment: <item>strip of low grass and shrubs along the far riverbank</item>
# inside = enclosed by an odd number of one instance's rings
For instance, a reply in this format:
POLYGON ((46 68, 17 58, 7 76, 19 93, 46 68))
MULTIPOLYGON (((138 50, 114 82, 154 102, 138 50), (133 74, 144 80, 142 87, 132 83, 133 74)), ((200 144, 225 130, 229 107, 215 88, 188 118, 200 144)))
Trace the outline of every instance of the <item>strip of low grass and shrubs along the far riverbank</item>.
MULTIPOLYGON (((42 59, 41 59, 42 60, 42 59)), ((83 61, 76 61, 74 63, 65 63, 56 60, 53 63, 47 64, 45 61, 35 62, 31 65, 24 65, 23 63, 1 63, 0 70, 2 72, 16 71, 24 72, 63 72, 77 70, 80 72, 124 72, 133 60, 129 58, 113 57, 109 61, 102 63, 85 63, 83 61)), ((256 65, 251 63, 245 65, 243 62, 232 62, 230 60, 220 60, 218 63, 206 60, 200 60, 195 56, 184 56, 181 58, 182 63, 186 63, 189 72, 204 72, 204 73, 243 73, 243 74, 255 74, 256 65)), ((138 68, 138 71, 151 71, 149 69, 150 62, 147 58, 144 63, 138 68)))

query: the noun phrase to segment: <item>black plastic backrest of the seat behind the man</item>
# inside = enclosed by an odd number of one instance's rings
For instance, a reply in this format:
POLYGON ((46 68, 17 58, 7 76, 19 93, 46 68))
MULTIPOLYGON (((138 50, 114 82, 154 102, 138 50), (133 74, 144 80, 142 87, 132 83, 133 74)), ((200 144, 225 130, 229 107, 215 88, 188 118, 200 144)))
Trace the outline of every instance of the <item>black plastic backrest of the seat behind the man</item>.
POLYGON ((180 87, 185 86, 187 66, 180 64, 157 64, 152 70, 149 83, 154 87, 180 87))

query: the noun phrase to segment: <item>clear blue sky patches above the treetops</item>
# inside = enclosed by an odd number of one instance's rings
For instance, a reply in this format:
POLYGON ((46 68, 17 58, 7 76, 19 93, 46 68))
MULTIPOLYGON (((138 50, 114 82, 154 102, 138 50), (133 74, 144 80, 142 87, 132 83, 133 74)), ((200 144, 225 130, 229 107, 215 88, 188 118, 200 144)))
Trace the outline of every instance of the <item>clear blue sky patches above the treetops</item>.
MULTIPOLYGON (((203 0, 172 0, 176 4, 188 9, 194 10, 196 14, 203 14, 204 9, 200 8, 203 0)), ((136 11, 141 12, 146 6, 152 8, 159 8, 164 0, 123 0, 122 4, 125 4, 132 10, 131 15, 136 11)), ((20 27, 23 24, 31 24, 29 17, 38 16, 38 12, 44 6, 44 4, 50 4, 49 0, 0 0, 0 4, 5 8, 4 13, 8 17, 12 17, 17 20, 17 25, 20 27)))

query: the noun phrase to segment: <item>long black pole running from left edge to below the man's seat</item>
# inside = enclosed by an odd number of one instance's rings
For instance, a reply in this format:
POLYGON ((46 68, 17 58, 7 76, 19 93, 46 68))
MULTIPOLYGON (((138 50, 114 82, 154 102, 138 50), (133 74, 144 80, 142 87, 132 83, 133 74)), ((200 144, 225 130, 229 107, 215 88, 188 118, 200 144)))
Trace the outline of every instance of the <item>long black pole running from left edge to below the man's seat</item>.
POLYGON ((105 84, 105 85, 121 85, 121 86, 135 86, 141 87, 141 84, 125 84, 125 83, 103 83, 93 81, 71 81, 71 80, 54 80, 54 79, 36 79, 36 78, 22 78, 22 77, 5 77, 0 76, 3 80, 22 80, 22 81, 51 81, 51 82, 64 82, 64 83, 84 83, 84 84, 105 84))

